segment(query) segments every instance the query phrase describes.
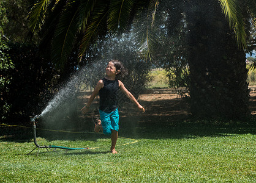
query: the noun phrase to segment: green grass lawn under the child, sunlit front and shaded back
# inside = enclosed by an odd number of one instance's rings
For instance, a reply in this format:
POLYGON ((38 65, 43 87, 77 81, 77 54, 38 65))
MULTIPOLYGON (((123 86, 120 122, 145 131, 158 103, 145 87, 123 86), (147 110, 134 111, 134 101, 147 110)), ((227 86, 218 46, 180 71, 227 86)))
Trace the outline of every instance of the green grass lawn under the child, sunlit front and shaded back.
POLYGON ((39 145, 95 148, 56 149, 58 154, 40 149, 37 157, 37 150, 26 155, 35 147, 32 129, 0 127, 1 134, 9 134, 0 137, 0 182, 256 181, 253 124, 135 128, 119 132, 127 138, 118 138, 118 154, 110 154, 110 139, 103 134, 37 131, 39 145))

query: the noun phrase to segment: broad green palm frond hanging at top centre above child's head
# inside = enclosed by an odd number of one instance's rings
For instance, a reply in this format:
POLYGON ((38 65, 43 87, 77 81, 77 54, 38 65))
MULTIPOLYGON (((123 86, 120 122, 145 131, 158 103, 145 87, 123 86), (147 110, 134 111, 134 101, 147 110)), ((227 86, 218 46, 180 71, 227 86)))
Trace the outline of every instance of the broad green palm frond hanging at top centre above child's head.
POLYGON ((132 9, 135 0, 114 0, 110 1, 108 13, 108 30, 116 32, 125 30, 129 25, 132 9))

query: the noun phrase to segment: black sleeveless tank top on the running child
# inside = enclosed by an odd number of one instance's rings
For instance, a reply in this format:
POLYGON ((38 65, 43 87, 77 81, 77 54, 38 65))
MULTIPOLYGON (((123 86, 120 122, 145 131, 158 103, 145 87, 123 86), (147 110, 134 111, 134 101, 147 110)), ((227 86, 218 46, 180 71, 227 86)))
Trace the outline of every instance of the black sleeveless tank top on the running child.
POLYGON ((104 87, 100 89, 100 107, 99 109, 104 112, 112 112, 118 108, 118 79, 111 81, 102 79, 104 87))

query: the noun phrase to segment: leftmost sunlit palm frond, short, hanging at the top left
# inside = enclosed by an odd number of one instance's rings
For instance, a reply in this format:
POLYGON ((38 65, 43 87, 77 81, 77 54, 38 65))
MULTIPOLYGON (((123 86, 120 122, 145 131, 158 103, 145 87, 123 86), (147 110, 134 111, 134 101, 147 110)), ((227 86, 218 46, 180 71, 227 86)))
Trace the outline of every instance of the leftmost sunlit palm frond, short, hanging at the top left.
POLYGON ((51 0, 38 0, 32 7, 28 14, 29 29, 35 32, 37 29, 41 29, 45 19, 45 13, 51 0))

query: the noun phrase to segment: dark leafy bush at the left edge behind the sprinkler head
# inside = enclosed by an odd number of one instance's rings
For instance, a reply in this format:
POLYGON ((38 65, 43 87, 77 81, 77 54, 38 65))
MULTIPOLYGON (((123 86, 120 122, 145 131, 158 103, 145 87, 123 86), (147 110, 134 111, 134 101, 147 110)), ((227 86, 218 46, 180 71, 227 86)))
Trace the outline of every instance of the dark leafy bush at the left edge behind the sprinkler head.
POLYGON ((35 45, 9 43, 1 48, 1 102, 6 104, 6 109, 1 110, 2 120, 28 121, 29 115, 43 106, 40 101, 50 95, 56 82, 55 69, 50 61, 46 62, 47 56, 37 56, 35 45))

